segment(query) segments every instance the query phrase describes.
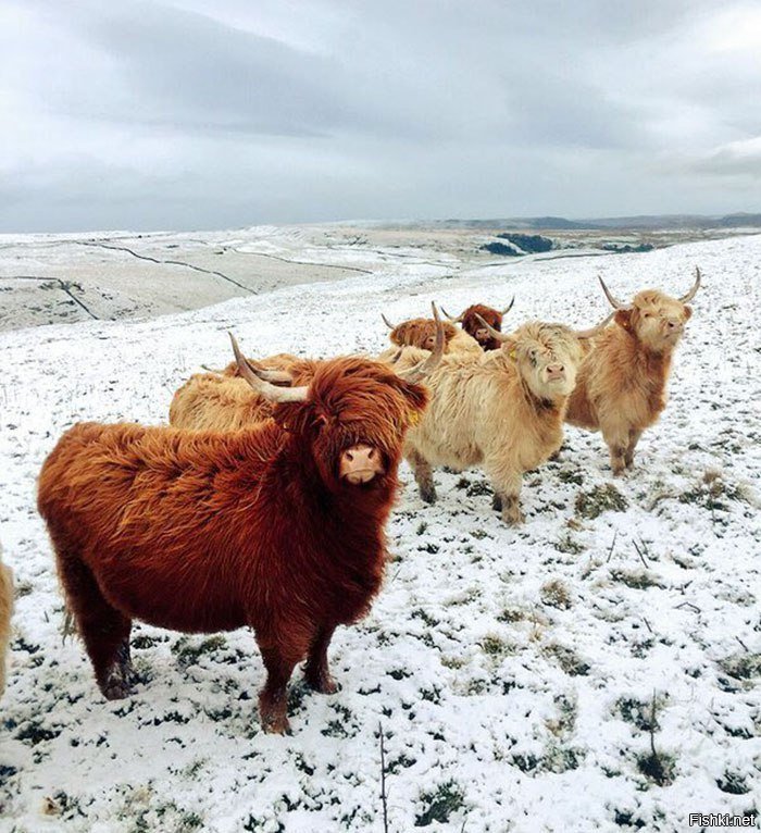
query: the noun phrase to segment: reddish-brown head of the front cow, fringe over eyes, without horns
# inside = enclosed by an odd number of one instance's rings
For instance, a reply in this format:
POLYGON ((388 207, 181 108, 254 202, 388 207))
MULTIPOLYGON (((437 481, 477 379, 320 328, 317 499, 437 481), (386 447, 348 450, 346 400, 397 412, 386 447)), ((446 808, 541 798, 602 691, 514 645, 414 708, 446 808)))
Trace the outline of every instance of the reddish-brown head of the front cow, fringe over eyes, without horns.
POLYGON ((309 444, 329 490, 366 489, 396 476, 404 434, 426 402, 425 388, 387 365, 335 359, 315 372, 305 403, 278 406, 275 418, 309 444))

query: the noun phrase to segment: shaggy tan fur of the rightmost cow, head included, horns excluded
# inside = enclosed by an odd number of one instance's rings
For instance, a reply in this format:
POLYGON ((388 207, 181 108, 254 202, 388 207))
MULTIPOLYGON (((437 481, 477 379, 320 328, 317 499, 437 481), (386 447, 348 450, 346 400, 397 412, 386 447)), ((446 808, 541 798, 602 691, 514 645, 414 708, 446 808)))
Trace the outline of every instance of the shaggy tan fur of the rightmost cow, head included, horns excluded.
POLYGON ((632 467, 639 437, 665 408, 673 351, 691 314, 675 298, 647 289, 591 343, 565 418, 602 431, 614 474, 632 467))

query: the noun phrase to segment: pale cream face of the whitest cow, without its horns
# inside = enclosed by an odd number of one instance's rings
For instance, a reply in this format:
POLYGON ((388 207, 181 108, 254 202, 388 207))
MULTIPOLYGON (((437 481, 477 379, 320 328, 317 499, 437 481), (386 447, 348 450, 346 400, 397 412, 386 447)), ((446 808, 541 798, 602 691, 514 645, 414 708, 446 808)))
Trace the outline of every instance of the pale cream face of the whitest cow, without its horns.
POLYGON ((529 322, 519 327, 502 345, 517 364, 529 389, 539 399, 570 396, 582 361, 582 344, 563 324, 529 322))

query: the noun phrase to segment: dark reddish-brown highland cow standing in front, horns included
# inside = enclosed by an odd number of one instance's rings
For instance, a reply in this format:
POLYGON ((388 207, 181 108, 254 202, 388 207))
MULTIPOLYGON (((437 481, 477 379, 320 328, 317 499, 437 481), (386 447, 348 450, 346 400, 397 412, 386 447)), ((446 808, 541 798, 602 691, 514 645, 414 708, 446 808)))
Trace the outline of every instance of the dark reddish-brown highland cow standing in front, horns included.
POLYGON ((427 402, 379 362, 319 363, 308 386, 261 380, 234 341, 241 376, 273 419, 237 432, 79 423, 45 461, 38 507, 103 695, 130 691, 133 619, 185 633, 253 630, 267 671, 262 725, 288 729, 287 684, 336 691, 335 629, 363 617, 386 561, 409 425, 427 402))

